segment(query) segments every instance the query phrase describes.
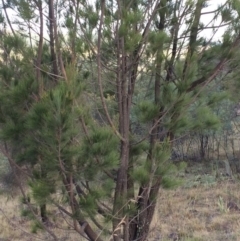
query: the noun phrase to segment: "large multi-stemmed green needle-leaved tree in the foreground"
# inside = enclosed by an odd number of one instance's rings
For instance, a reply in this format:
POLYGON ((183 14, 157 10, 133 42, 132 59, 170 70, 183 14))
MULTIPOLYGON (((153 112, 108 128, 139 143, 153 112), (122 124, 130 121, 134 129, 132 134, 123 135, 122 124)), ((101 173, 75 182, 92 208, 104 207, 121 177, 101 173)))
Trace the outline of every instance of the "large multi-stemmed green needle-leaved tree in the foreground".
POLYGON ((211 38, 200 33, 209 28, 201 23, 207 2, 14 2, 29 31, 23 24, 2 35, 1 151, 13 166, 27 167, 44 222, 32 218, 54 240, 46 205, 90 240, 147 239, 159 188, 177 182, 174 138, 217 126, 206 102, 191 107, 239 46, 239 4, 229 0, 214 11, 228 31, 217 62, 206 65, 211 38))

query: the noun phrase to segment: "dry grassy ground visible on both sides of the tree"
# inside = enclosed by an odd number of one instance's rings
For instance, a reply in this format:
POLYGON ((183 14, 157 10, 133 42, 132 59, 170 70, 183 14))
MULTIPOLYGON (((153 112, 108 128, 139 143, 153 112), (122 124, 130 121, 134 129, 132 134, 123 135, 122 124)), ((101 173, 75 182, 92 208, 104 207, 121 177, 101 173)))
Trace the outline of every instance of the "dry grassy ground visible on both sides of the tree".
MULTIPOLYGON (((180 176, 181 187, 160 190, 148 241, 240 241, 240 181, 216 177, 211 166, 200 163, 180 176)), ((0 196, 0 241, 50 240, 46 234, 31 233, 20 209, 19 200, 0 196)), ((69 227, 52 231, 61 241, 81 240, 69 227)))

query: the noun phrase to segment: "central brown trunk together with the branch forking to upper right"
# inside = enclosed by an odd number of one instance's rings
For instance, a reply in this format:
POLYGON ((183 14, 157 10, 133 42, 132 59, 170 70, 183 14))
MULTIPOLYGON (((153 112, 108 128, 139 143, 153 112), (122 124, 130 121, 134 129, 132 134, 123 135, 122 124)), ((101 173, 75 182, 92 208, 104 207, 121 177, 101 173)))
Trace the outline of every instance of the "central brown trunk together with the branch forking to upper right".
MULTIPOLYGON (((122 19, 121 10, 123 6, 121 5, 120 1, 118 1, 118 4, 118 19, 120 20, 122 19)), ((124 215, 124 209, 127 206, 127 202, 130 200, 129 195, 133 195, 129 190, 133 187, 133 180, 131 180, 130 176, 128 175, 132 168, 129 163, 130 108, 132 105, 132 96, 134 93, 134 86, 137 78, 139 59, 141 52, 145 47, 145 41, 148 36, 152 20, 158 9, 159 2, 156 2, 153 12, 150 15, 146 27, 143 31, 142 40, 131 54, 125 52, 124 37, 119 37, 118 33, 116 34, 116 52, 118 54, 116 85, 119 110, 119 133, 123 138, 121 139, 120 167, 117 175, 113 208, 113 216, 115 218, 113 220, 114 241, 119 241, 121 238, 125 241, 135 240, 135 237, 137 236, 136 233, 139 230, 137 214, 135 217, 124 215), (124 223, 124 227, 121 227, 121 222, 124 223), (121 233, 123 233, 123 235, 121 235, 121 233)), ((137 28, 134 29, 137 31, 137 28)))

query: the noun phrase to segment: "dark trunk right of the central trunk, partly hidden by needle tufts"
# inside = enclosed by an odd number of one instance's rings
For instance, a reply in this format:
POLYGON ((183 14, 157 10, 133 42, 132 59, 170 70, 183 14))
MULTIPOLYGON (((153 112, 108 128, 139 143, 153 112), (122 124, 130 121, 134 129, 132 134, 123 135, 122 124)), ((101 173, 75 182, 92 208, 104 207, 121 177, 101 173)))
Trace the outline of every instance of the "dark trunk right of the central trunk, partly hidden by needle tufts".
MULTIPOLYGON (((166 19, 166 4, 167 0, 161 1, 160 3, 160 22, 157 26, 159 31, 164 31, 165 28, 165 19, 166 19)), ((160 44, 160 47, 157 51, 156 56, 156 74, 155 74, 155 104, 158 105, 160 101, 160 85, 161 85, 161 67, 163 61, 163 44, 160 44)), ((159 110, 161 113, 161 110, 159 110)), ((160 123, 159 119, 161 116, 156 117, 152 123, 152 131, 150 133, 150 148, 147 156, 147 162, 150 166, 153 166, 153 149, 156 142, 159 141, 160 135, 160 123)), ((151 174, 150 174, 151 175, 151 174)), ((153 174, 154 175, 154 174, 153 174)), ((149 234, 150 224, 153 218, 153 214, 156 207, 156 200, 158 191, 161 185, 161 178, 151 179, 147 185, 141 186, 138 192, 138 202, 136 214, 131 227, 131 235, 133 236, 130 240, 139 240, 145 241, 149 234)))

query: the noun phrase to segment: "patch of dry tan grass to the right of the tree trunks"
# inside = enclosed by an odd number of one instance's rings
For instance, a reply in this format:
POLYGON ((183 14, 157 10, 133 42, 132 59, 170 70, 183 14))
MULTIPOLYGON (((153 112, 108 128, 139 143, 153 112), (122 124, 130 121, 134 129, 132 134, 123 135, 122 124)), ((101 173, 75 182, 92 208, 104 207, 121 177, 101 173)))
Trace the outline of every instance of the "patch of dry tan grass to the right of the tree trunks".
POLYGON ((161 190, 149 240, 240 241, 239 186, 237 180, 215 179, 161 190))

